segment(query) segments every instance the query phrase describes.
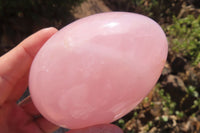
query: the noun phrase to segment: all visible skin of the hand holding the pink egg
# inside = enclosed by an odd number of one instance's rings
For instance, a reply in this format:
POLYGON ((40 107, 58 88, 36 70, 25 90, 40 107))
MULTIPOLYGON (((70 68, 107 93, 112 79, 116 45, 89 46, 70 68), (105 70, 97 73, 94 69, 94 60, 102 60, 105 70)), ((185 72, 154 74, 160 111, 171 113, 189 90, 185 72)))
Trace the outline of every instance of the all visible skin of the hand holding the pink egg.
MULTIPOLYGON (((1 133, 51 133, 59 127, 40 115, 30 97, 17 104, 28 86, 31 63, 42 45, 57 32, 55 28, 42 29, 26 38, 14 49, 0 57, 0 132, 1 133)), ((122 133, 108 124, 69 133, 122 133)))

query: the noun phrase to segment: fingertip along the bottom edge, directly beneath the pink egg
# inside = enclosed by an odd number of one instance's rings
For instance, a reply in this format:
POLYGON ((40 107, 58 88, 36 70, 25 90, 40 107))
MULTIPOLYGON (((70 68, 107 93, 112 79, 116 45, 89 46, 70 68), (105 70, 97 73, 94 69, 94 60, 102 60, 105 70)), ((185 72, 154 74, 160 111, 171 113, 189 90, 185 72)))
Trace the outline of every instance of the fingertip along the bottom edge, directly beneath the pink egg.
POLYGON ((74 129, 66 133, 123 133, 123 131, 113 124, 103 124, 83 129, 74 129))

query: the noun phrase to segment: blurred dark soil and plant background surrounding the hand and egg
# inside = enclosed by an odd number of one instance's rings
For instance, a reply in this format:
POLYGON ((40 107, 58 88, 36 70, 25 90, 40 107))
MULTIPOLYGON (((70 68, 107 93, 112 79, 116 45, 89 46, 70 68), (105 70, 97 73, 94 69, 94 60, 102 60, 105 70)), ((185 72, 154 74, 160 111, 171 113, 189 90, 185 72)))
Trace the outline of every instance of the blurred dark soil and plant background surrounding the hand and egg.
POLYGON ((108 11, 149 16, 169 42, 159 82, 137 108, 113 123, 125 133, 200 133, 199 0, 0 0, 0 55, 39 29, 61 29, 108 11))

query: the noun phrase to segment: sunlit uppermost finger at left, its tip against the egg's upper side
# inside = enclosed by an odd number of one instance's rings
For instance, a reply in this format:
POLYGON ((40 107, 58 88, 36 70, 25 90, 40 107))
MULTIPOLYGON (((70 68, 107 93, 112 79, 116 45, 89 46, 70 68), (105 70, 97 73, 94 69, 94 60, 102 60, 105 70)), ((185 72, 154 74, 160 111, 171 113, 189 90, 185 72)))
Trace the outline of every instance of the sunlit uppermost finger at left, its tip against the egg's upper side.
MULTIPOLYGON (((6 100, 15 84, 29 70, 41 46, 56 31, 55 28, 40 30, 0 57, 0 105, 6 100)), ((24 91, 24 89, 19 91, 24 91)))

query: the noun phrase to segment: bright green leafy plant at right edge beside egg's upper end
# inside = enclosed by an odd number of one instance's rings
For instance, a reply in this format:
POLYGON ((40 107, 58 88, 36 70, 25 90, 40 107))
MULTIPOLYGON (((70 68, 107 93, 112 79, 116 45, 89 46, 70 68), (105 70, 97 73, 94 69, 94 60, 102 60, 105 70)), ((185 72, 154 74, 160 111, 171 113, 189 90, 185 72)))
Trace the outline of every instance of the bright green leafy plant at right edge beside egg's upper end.
POLYGON ((187 57, 193 65, 200 62, 200 15, 197 18, 193 15, 181 19, 173 17, 173 24, 166 32, 174 52, 187 57))

